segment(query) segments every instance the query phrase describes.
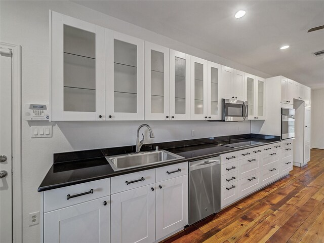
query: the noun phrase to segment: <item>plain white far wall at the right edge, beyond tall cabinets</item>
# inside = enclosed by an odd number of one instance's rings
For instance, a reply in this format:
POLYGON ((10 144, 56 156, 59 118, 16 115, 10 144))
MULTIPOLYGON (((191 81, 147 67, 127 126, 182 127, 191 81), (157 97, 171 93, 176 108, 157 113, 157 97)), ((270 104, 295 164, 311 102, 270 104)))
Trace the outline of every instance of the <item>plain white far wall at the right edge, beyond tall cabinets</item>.
POLYGON ((311 93, 311 148, 324 149, 324 89, 311 93))

